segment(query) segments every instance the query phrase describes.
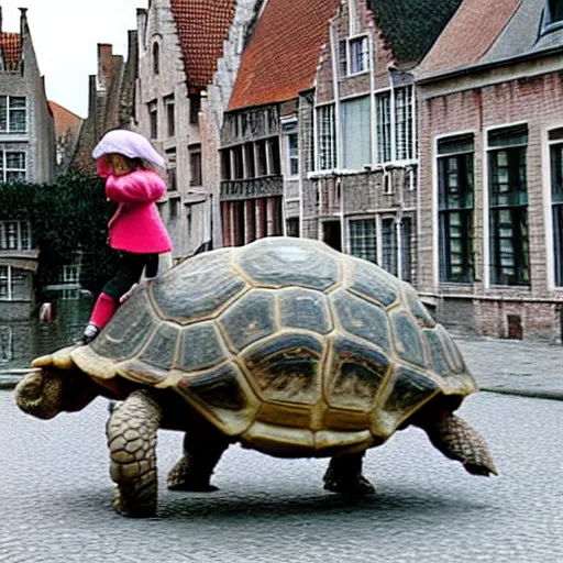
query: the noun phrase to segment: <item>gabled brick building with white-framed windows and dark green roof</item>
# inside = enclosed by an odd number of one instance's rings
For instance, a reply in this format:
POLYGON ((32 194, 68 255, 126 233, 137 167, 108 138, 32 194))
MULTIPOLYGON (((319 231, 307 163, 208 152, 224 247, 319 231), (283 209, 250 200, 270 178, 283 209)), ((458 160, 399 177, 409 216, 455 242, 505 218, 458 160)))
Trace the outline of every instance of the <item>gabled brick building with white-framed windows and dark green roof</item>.
POLYGON ((417 108, 412 69, 461 0, 342 0, 314 89, 300 97, 303 236, 415 282, 417 108))

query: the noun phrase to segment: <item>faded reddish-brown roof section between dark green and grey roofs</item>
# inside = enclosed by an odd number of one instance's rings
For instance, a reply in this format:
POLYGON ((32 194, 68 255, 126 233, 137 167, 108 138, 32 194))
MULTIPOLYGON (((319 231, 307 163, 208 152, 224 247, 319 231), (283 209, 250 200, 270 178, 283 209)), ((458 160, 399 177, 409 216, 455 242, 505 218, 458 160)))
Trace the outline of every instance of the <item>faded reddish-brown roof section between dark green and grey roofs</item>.
POLYGON ((478 63, 521 3, 522 0, 465 0, 420 64, 417 75, 424 78, 478 63))

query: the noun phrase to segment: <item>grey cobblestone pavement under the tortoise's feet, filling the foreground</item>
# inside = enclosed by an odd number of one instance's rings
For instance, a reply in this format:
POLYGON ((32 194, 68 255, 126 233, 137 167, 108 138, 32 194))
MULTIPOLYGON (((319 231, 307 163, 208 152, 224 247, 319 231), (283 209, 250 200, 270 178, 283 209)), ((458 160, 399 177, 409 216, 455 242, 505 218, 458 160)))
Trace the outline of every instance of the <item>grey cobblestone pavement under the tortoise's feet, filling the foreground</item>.
POLYGON ((40 421, 0 393, 0 562, 561 563, 563 402, 482 393, 460 413, 500 472, 474 477, 417 429, 371 450, 378 495, 324 493, 325 460, 231 448, 211 495, 170 493, 181 435, 161 432, 158 516, 110 508, 106 402, 40 421))

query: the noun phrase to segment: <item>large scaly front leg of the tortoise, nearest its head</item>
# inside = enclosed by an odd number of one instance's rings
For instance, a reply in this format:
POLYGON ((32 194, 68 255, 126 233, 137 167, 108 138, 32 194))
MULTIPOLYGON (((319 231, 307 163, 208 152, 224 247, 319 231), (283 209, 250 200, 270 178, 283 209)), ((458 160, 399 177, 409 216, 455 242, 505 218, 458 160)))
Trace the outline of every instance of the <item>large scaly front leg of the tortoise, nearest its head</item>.
POLYGON ((113 509, 120 515, 148 517, 156 512, 156 432, 161 419, 159 405, 140 389, 108 420, 110 476, 118 485, 113 509))

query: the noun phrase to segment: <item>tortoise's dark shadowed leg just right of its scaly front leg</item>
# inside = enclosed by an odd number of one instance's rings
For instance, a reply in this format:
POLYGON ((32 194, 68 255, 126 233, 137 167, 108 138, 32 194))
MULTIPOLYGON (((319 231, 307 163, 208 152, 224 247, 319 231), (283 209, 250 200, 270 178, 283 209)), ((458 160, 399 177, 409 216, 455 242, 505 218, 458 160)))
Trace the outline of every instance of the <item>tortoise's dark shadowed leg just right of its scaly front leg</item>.
POLYGON ((217 490, 218 487, 210 484, 211 475, 228 448, 229 441, 218 432, 210 434, 201 429, 186 432, 184 455, 168 473, 168 488, 196 493, 217 490))

